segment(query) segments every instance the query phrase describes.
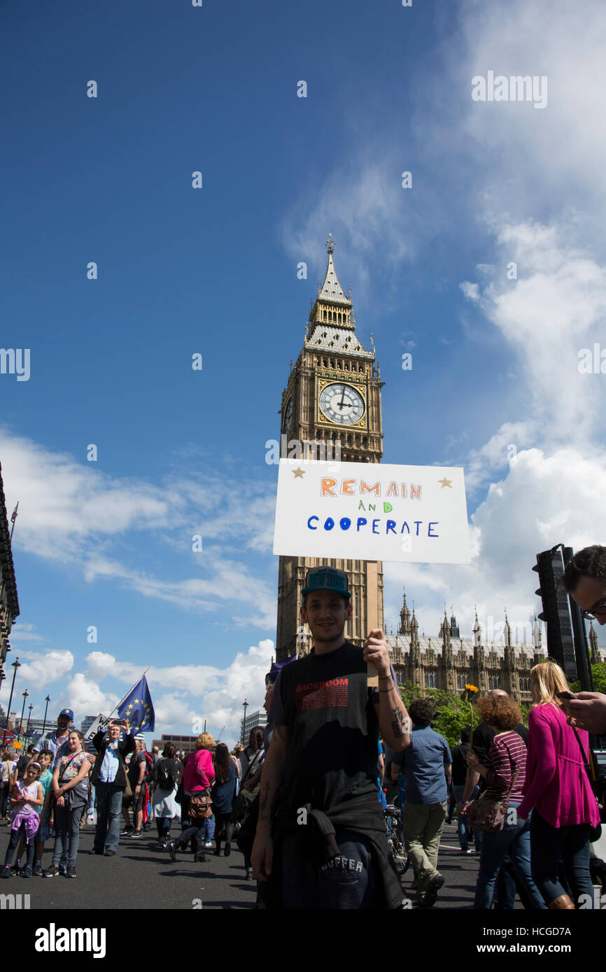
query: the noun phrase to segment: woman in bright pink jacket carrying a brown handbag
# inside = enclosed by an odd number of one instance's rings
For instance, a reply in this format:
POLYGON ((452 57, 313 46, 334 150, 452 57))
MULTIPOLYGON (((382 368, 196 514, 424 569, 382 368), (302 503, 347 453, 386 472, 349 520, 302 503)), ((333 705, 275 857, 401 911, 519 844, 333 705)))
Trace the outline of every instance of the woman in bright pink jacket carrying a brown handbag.
POLYGON ((202 732, 196 739, 196 750, 191 752, 183 771, 183 799, 181 801, 181 836, 166 845, 172 860, 177 859, 177 851, 187 848, 191 837, 196 838, 196 854, 194 859, 205 862, 208 860, 204 853, 204 825, 206 816, 210 816, 210 784, 215 779, 215 769, 212 764, 212 752, 215 741, 209 732, 202 732), (206 802, 208 812, 203 809, 206 802), (202 816, 204 814, 205 816, 202 816))

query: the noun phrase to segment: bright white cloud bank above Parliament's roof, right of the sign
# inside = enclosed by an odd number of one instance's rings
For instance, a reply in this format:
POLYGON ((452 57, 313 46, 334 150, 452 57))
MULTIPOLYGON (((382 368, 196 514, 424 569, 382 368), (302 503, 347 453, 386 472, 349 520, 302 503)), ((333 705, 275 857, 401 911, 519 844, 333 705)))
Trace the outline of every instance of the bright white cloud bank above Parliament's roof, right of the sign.
MULTIPOLYGON (((442 603, 452 604, 461 633, 470 636, 474 607, 484 634, 489 618, 524 624, 541 610, 532 573, 535 554, 558 542, 575 549, 606 536, 606 457, 566 448, 546 455, 540 449, 517 453, 508 474, 491 484, 472 516, 473 559, 469 566, 388 565, 386 601, 401 606, 406 584, 419 630, 438 633, 442 603)), ((390 617, 395 616, 392 608, 390 617)), ((526 637, 529 629, 526 629, 526 637)), ((520 632, 521 637, 521 632, 520 632)))

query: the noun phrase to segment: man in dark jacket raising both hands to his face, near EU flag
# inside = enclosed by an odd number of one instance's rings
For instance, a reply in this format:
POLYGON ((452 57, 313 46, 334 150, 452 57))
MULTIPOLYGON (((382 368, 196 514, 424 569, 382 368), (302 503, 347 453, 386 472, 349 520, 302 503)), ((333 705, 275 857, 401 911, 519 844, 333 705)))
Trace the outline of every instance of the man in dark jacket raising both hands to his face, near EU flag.
POLYGON ((128 782, 125 757, 136 748, 132 733, 126 734, 127 728, 125 719, 112 719, 107 734, 101 729, 92 740, 97 755, 90 782, 96 787, 97 825, 90 853, 105 857, 113 857, 120 842, 120 816, 128 782), (123 730, 125 738, 121 740, 123 730))

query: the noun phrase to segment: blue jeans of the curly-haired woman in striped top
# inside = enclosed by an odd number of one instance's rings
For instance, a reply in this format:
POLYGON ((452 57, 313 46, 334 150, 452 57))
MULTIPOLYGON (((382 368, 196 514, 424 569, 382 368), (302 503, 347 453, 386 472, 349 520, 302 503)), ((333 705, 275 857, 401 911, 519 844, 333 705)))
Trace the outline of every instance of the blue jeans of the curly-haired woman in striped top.
MULTIPOLYGON (((517 810, 517 807, 519 801, 511 801, 508 812, 517 810)), ((545 911, 547 905, 530 875, 530 820, 520 819, 516 819, 515 823, 506 822, 503 830, 482 833, 474 908, 490 908, 496 880, 508 851, 517 877, 525 885, 533 908, 545 911)))

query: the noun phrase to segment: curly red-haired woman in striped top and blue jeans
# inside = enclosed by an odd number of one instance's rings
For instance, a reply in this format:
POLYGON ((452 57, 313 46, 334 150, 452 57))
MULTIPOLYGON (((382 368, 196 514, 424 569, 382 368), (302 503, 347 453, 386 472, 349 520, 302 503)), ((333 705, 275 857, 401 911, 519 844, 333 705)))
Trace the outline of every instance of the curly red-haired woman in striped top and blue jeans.
POLYGON ((530 874, 530 820, 517 817, 526 775, 526 746, 516 732, 521 712, 507 696, 488 695, 479 700, 478 708, 482 722, 494 729, 495 736, 484 763, 471 749, 468 765, 484 779, 485 799, 503 800, 508 793, 510 796, 503 829, 482 834, 474 908, 487 910, 492 905, 497 877, 509 852, 533 908, 543 911, 547 905, 530 874))

